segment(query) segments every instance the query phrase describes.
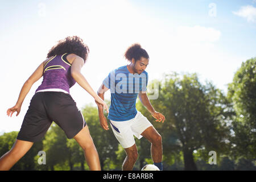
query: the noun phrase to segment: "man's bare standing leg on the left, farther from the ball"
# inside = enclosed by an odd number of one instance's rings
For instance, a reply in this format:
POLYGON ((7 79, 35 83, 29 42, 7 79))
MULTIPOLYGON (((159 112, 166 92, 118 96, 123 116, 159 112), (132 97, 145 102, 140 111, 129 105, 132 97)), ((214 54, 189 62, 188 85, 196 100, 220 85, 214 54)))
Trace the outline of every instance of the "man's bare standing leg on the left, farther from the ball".
POLYGON ((131 171, 133 170, 133 166, 138 158, 138 150, 136 144, 129 148, 125 148, 126 158, 123 161, 122 170, 123 171, 131 171))

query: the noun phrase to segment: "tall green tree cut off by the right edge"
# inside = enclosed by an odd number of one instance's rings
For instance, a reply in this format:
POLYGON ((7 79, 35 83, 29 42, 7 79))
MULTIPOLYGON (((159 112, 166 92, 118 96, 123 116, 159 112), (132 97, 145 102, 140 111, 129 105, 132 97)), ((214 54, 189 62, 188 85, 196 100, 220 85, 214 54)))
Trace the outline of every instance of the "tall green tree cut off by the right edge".
POLYGON ((256 156, 256 58, 242 63, 228 87, 233 102, 233 151, 236 157, 255 159, 256 156))

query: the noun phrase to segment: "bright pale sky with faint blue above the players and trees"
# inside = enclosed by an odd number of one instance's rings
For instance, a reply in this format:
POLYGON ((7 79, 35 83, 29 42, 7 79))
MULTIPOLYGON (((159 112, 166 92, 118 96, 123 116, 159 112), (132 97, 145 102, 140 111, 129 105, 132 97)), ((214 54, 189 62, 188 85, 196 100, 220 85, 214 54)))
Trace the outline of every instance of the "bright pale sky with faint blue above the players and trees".
MULTIPOLYGON (((80 36, 88 44, 82 74, 95 91, 110 71, 128 64, 126 49, 140 43, 150 56, 149 81, 162 80, 164 73, 197 73, 202 83, 211 81, 226 93, 242 62, 256 56, 255 33, 256 0, 1 0, 0 134, 19 131, 42 78, 18 117, 7 117, 7 109, 49 49, 67 36, 80 36)), ((70 94, 79 109, 94 105, 78 84, 70 94)))

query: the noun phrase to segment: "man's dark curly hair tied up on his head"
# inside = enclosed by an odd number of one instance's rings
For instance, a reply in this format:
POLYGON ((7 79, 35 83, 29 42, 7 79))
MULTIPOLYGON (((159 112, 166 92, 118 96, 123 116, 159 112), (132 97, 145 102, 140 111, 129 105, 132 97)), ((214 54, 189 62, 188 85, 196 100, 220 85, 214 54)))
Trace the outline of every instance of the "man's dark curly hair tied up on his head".
POLYGON ((125 58, 130 62, 133 58, 137 61, 140 60, 141 57, 149 59, 147 51, 141 48, 141 45, 138 43, 131 45, 125 52, 125 58))

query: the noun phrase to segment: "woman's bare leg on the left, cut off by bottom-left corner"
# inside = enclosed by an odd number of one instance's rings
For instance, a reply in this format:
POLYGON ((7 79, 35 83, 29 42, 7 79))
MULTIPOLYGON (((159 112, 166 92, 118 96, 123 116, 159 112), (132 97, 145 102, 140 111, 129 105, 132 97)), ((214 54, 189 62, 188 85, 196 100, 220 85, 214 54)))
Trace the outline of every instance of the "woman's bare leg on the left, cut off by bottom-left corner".
POLYGON ((14 166, 32 147, 33 142, 16 139, 10 151, 0 158, 0 171, 7 171, 14 166))

